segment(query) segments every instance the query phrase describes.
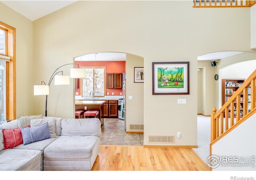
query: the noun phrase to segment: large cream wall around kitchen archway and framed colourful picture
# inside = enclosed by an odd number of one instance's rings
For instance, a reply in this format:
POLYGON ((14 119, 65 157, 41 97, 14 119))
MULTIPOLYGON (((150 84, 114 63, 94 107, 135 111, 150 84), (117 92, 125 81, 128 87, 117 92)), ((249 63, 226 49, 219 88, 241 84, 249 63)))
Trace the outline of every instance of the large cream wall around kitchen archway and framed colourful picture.
MULTIPOLYGON (((251 51, 250 8, 192 6, 192 1, 78 1, 35 20, 34 83, 48 80, 56 67, 72 63, 78 55, 109 51, 139 55, 144 57, 145 71, 144 144, 148 145, 148 135, 179 131, 182 138, 174 145, 196 145, 197 56, 251 51), (223 18, 226 14, 232 18, 223 18), (156 61, 189 61, 190 95, 152 95, 156 61), (187 103, 177 104, 177 99, 187 103)), ((73 117, 72 85, 50 87, 49 115, 73 117)), ((35 114, 44 113, 44 102, 44 97, 34 97, 35 114)))

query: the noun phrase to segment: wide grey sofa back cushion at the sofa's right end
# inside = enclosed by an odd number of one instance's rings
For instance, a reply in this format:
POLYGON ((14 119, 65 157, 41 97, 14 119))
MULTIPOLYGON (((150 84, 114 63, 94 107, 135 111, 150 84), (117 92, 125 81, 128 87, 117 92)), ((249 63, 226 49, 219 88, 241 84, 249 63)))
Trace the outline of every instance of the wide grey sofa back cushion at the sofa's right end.
POLYGON ((100 136, 100 120, 90 119, 62 119, 61 135, 64 136, 100 136))

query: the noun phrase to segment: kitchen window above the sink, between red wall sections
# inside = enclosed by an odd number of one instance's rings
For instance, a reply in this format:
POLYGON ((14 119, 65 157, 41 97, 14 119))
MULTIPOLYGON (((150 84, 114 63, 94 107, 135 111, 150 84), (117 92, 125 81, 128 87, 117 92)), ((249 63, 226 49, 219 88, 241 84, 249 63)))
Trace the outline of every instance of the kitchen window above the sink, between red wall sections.
POLYGON ((105 96, 105 67, 81 67, 86 69, 86 78, 81 79, 82 97, 105 96))

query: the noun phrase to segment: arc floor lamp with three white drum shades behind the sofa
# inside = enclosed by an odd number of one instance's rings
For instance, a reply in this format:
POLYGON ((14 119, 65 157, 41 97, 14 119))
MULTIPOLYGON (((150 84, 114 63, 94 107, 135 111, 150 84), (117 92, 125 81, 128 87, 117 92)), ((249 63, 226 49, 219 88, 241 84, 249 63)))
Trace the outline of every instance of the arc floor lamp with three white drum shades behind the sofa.
POLYGON ((50 77, 50 80, 48 82, 48 85, 44 81, 41 81, 41 85, 34 85, 34 95, 46 95, 46 101, 45 101, 45 116, 47 116, 47 99, 49 95, 49 89, 50 85, 52 83, 52 80, 54 79, 54 85, 70 85, 70 78, 80 79, 86 77, 86 70, 83 68, 79 68, 78 64, 69 63, 64 64, 60 67, 58 67, 50 77), (65 65, 77 65, 77 68, 71 68, 70 69, 70 76, 63 75, 63 71, 58 71, 61 67, 65 65), (57 72, 58 71, 58 72, 57 72), (58 73, 62 73, 62 75, 57 75, 58 73), (44 85, 43 85, 44 83, 44 85))

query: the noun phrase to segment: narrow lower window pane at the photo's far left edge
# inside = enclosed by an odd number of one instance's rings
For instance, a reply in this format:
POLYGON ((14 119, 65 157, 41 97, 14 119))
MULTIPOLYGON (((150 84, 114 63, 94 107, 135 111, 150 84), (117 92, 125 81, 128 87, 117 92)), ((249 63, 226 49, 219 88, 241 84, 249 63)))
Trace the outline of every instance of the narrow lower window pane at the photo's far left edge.
POLYGON ((5 122, 5 62, 0 60, 0 125, 5 122))

